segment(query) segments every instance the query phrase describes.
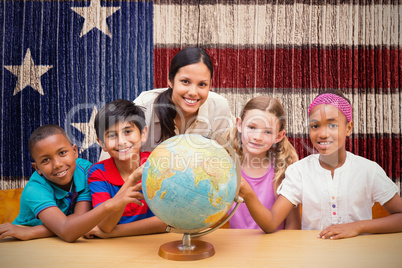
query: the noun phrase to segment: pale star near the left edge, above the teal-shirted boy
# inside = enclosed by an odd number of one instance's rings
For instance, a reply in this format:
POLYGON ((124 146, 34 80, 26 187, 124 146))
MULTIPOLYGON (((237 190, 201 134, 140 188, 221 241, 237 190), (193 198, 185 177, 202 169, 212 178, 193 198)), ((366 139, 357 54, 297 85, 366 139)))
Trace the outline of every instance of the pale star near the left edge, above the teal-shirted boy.
POLYGON ((21 65, 4 66, 7 70, 18 77, 17 85, 15 86, 13 95, 22 91, 27 86, 32 87, 41 95, 44 95, 40 77, 53 68, 52 65, 35 65, 31 56, 31 51, 27 50, 24 57, 24 62, 21 65))

